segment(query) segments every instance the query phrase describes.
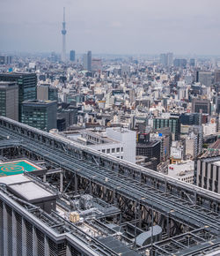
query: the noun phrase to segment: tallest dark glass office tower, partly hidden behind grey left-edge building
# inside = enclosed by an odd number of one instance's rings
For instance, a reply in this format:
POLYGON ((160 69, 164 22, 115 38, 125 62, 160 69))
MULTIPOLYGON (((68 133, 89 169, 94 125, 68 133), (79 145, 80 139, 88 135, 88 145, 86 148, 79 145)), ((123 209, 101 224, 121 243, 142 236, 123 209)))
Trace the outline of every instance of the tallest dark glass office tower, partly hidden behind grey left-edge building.
POLYGON ((18 121, 21 121, 21 103, 36 100, 37 76, 35 73, 2 73, 0 81, 17 82, 18 84, 18 121))

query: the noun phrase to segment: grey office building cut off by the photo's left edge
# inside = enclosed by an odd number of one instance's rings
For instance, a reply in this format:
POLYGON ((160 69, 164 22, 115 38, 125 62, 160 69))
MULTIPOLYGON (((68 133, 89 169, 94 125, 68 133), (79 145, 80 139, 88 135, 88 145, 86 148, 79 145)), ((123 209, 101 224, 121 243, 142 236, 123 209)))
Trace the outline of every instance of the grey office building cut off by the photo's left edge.
POLYGON ((0 82, 0 116, 18 121, 18 85, 0 82))

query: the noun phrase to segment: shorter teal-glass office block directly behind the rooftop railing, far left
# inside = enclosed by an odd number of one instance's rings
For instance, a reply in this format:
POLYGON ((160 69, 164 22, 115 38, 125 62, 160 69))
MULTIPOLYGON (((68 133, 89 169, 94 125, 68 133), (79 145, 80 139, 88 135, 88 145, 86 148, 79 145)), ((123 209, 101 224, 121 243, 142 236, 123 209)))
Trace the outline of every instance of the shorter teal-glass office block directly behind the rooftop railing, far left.
POLYGON ((42 131, 56 128, 57 102, 27 101, 22 103, 21 122, 42 131))

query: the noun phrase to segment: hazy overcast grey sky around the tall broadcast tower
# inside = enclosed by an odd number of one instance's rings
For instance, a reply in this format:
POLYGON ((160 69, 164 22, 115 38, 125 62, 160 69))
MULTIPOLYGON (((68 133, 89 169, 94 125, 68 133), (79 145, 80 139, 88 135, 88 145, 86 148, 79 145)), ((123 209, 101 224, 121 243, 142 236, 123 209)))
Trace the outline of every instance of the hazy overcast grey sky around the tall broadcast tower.
POLYGON ((220 55, 220 0, 0 0, 0 51, 220 55))

